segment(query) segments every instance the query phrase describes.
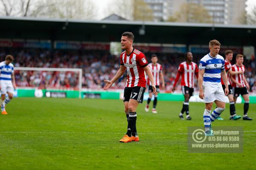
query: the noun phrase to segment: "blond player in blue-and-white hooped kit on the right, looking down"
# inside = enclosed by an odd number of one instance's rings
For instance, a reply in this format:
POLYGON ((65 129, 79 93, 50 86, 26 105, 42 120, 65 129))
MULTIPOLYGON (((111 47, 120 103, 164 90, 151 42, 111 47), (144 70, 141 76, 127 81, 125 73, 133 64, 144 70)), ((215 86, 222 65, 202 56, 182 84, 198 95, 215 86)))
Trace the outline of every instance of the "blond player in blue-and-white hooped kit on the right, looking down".
POLYGON ((218 55, 220 46, 220 42, 211 40, 209 42, 210 53, 205 55, 199 64, 199 97, 204 99, 205 103, 204 128, 206 136, 213 136, 212 122, 225 110, 225 95, 227 96, 229 92, 225 61, 221 55, 218 55), (221 77, 226 87, 225 93, 221 85, 221 77), (212 111, 213 102, 217 105, 214 111, 212 111))

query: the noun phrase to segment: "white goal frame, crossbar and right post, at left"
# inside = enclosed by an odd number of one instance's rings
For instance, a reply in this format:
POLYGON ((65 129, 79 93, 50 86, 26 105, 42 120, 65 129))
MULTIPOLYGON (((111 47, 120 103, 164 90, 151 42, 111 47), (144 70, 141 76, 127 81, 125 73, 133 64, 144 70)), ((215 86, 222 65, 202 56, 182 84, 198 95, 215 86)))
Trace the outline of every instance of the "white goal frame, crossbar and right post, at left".
POLYGON ((37 68, 37 67, 14 67, 14 71, 69 71, 79 72, 79 98, 82 91, 82 69, 81 68, 37 68))

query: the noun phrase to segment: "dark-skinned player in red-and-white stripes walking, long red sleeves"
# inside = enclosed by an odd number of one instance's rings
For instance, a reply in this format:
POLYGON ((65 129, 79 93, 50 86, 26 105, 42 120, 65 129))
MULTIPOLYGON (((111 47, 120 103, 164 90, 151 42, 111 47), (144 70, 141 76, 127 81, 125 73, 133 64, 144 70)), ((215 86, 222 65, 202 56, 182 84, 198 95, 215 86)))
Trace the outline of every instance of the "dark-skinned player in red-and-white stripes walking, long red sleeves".
POLYGON ((175 78, 175 82, 172 88, 172 91, 175 91, 176 84, 178 80, 180 79, 181 75, 181 88, 182 93, 184 95, 184 102, 182 105, 182 109, 180 111, 180 119, 184 119, 183 113, 185 111, 186 113, 186 119, 191 120, 191 117, 189 115, 189 98, 193 96, 194 93, 194 75, 198 78, 198 66, 195 62, 192 62, 193 55, 191 52, 185 53, 185 62, 180 63, 180 66, 178 68, 178 73, 175 78))

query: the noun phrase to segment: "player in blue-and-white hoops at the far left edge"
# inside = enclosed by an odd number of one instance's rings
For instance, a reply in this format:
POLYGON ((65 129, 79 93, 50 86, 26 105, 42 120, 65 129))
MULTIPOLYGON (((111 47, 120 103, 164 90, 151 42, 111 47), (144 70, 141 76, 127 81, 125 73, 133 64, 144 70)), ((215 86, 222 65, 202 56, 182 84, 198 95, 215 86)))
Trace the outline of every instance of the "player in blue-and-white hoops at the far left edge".
POLYGON ((7 55, 6 60, 0 62, 0 89, 1 89, 1 110, 2 114, 7 114, 5 105, 13 98, 13 91, 16 89, 15 77, 13 71, 13 57, 7 55), (8 96, 6 97, 6 93, 8 96))

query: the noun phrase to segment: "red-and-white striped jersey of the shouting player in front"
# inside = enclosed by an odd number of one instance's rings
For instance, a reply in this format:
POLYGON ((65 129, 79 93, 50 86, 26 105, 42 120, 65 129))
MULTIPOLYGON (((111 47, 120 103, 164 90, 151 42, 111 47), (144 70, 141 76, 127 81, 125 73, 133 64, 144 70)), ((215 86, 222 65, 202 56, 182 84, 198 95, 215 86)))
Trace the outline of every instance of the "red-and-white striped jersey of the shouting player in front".
POLYGON ((146 78, 144 67, 148 65, 145 55, 135 49, 127 55, 122 52, 120 55, 120 64, 126 67, 127 83, 126 87, 146 87, 146 78))

